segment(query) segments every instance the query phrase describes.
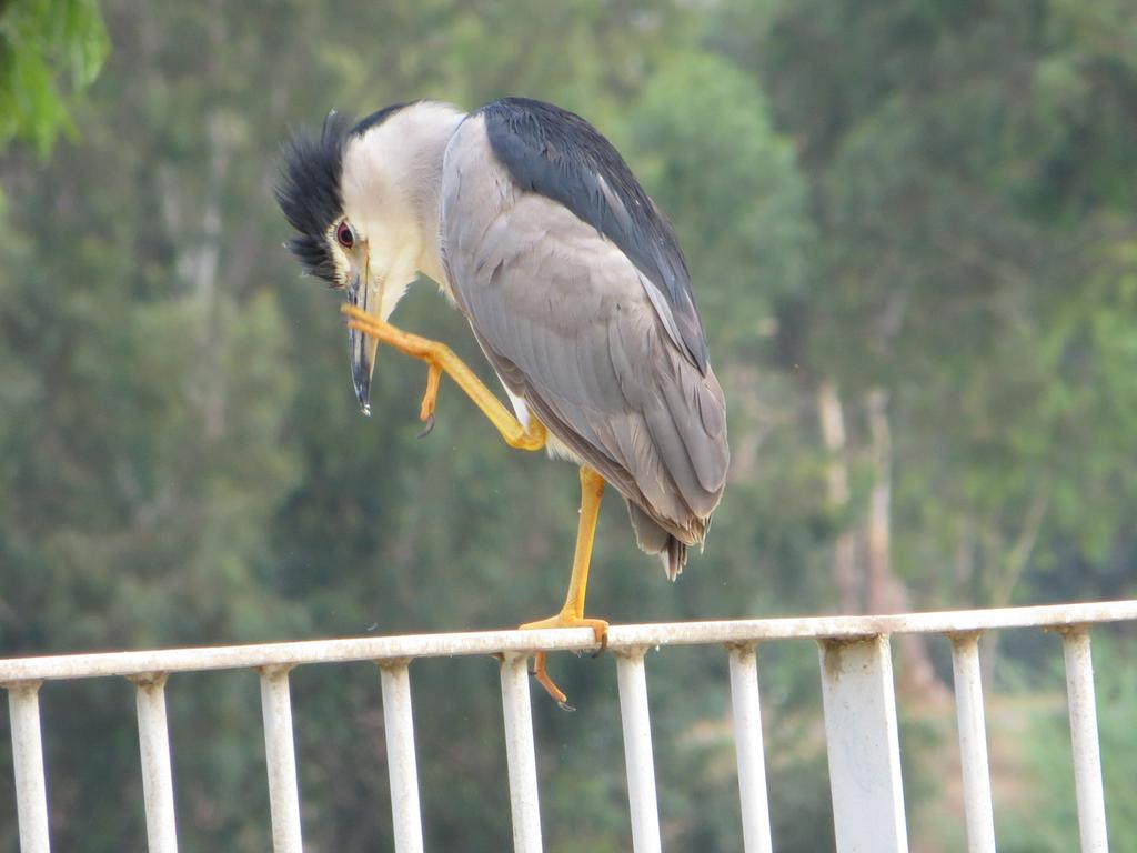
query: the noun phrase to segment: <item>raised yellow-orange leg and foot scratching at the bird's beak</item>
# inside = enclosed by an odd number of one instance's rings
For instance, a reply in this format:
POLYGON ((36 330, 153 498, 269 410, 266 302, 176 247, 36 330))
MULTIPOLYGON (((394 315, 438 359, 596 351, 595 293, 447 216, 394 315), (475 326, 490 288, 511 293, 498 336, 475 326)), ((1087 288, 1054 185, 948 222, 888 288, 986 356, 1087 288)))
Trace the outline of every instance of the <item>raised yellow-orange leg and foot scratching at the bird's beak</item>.
POLYGON ((522 426, 513 412, 503 405, 501 400, 478 378, 478 374, 448 346, 404 332, 401 329, 396 329, 390 323, 384 323, 350 305, 345 305, 342 310, 349 317, 349 328, 375 338, 380 343, 387 343, 400 353, 421 358, 430 366, 426 374, 426 392, 423 395, 418 414, 423 421, 431 423, 434 417, 439 382, 442 373, 447 373, 490 420, 490 423, 497 428, 509 447, 516 447, 520 450, 540 450, 545 447, 545 424, 533 417, 530 420, 528 429, 522 426))

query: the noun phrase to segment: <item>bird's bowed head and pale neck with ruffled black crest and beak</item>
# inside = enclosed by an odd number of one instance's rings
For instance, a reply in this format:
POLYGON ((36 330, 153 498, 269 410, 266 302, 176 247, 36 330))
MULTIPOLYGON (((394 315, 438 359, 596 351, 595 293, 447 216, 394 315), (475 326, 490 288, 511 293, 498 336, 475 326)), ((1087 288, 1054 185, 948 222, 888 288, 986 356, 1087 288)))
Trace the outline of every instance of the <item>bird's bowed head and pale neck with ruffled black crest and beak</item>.
MULTIPOLYGON (((305 272, 384 322, 420 272, 442 281, 438 183, 462 114, 435 101, 398 103, 356 123, 335 113, 284 149, 276 200, 305 272)), ((351 379, 371 413, 376 342, 349 330, 351 379)))

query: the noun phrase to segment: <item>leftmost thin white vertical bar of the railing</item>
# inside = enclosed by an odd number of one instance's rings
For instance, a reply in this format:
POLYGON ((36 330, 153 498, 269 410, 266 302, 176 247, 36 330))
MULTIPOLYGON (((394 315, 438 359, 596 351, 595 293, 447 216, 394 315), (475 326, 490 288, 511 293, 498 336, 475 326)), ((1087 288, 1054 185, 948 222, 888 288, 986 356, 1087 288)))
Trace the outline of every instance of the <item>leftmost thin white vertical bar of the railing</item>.
POLYGON ((6 685, 16 769, 16 821, 20 853, 49 853, 48 786, 40 732, 40 681, 6 685))

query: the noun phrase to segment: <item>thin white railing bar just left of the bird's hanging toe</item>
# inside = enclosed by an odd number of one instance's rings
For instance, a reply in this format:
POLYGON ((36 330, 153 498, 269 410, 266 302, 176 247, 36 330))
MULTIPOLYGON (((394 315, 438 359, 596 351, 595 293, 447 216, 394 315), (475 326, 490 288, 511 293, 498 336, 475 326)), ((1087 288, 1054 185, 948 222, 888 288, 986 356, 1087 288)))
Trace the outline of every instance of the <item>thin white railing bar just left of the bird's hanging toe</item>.
POLYGON ((537 754, 533 750, 533 712, 529 699, 529 655, 501 655, 501 713, 505 718, 505 752, 509 765, 509 808, 513 813, 513 848, 516 853, 541 853, 541 806, 537 790, 537 754))

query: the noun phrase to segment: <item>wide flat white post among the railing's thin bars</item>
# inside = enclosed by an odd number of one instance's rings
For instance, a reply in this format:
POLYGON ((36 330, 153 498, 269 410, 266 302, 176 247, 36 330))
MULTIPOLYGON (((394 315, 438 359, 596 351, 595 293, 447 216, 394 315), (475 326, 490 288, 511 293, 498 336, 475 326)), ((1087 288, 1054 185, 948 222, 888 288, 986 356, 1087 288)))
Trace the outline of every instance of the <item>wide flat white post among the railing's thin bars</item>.
POLYGON ((820 645, 837 853, 907 853, 888 637, 820 645))

